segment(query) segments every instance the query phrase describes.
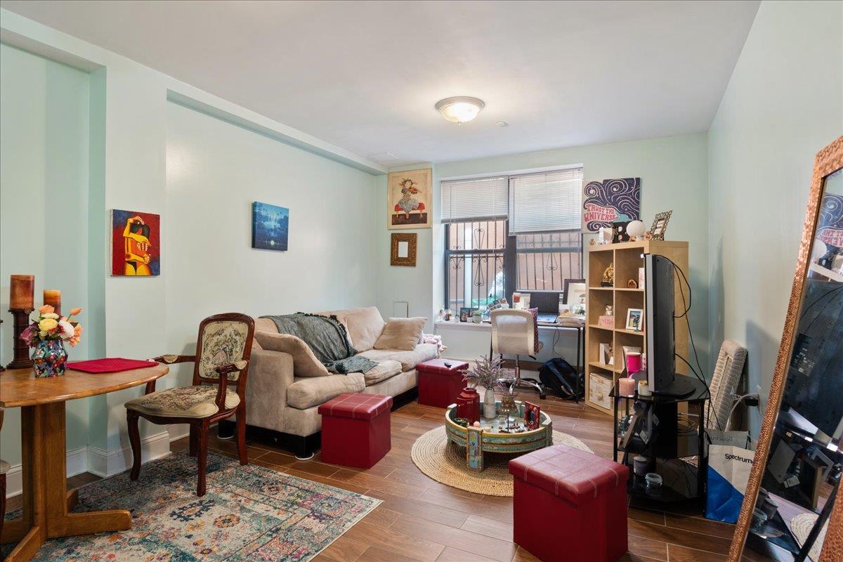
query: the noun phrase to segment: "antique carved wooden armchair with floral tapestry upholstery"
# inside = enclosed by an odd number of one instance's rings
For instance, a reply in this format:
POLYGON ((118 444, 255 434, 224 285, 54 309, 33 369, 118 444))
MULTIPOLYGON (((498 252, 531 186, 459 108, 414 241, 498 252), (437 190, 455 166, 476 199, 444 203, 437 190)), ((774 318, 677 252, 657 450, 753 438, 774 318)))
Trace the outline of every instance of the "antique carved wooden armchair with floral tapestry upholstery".
POLYGON ((191 426, 191 457, 198 457, 199 481, 196 494, 205 495, 208 428, 212 423, 237 414, 237 452, 240 464, 249 463, 246 457, 246 377, 255 320, 239 313, 215 314, 199 324, 199 339, 195 356, 165 355, 159 361, 192 362, 193 386, 155 391, 155 382, 147 384, 146 393, 126 402, 126 421, 132 443, 132 472, 137 480, 141 472, 141 436, 137 419, 142 417, 153 424, 189 424, 191 426), (202 383, 210 385, 207 386, 202 383), (236 390, 228 388, 236 384, 236 390))

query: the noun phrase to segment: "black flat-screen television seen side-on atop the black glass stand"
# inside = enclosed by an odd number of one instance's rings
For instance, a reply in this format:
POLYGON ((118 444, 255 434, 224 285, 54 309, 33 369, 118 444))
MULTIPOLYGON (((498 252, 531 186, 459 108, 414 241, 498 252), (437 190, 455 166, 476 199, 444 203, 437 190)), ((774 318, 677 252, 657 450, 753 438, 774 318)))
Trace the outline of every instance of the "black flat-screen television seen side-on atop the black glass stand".
POLYGON ((694 384, 676 377, 674 336, 674 264, 658 254, 644 254, 644 294, 647 319, 647 384, 653 394, 687 396, 694 384))

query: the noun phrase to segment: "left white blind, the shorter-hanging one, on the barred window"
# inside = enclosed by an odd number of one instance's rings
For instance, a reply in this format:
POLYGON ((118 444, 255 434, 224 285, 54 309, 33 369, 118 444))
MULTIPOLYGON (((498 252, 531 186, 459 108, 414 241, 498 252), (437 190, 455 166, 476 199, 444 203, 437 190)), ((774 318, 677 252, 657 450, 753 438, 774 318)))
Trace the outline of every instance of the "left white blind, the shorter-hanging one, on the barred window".
POLYGON ((507 176, 442 182, 442 222, 507 216, 507 176))

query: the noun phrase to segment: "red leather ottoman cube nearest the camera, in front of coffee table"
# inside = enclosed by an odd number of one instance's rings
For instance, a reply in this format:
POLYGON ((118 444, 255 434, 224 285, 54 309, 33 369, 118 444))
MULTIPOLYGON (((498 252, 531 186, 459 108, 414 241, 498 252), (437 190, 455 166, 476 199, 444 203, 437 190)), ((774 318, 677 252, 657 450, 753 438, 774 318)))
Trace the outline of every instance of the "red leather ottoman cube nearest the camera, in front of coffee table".
POLYGON ((554 445, 509 461, 513 540, 544 562, 615 562, 626 554, 629 468, 554 445))

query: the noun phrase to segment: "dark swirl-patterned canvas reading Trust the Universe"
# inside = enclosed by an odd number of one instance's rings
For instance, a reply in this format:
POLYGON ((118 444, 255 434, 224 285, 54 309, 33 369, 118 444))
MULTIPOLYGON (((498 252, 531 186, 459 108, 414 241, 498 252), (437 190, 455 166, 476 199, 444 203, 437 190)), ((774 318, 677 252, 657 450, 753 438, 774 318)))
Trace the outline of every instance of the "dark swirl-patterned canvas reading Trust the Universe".
POLYGON ((641 215, 641 178, 589 181, 583 187, 583 232, 596 233, 615 221, 637 221, 641 215))

